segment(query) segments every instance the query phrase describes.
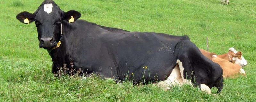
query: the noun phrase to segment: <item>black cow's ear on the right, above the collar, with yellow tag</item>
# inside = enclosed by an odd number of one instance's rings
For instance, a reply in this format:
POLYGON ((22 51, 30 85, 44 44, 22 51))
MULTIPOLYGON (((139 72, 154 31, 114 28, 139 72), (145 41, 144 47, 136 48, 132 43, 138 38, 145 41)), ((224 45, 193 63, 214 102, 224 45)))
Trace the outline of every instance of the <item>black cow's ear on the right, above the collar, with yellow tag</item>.
POLYGON ((75 10, 70 10, 63 14, 62 20, 66 20, 67 22, 72 23, 72 22, 75 22, 80 17, 81 17, 81 13, 75 10))

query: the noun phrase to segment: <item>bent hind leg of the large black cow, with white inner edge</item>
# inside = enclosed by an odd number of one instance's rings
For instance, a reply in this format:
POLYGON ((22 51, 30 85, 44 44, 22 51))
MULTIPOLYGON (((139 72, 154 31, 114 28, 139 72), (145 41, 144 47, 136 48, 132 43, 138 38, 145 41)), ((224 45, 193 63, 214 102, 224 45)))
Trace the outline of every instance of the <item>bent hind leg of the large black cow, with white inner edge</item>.
POLYGON ((210 88, 201 83, 216 81, 213 85, 219 87, 218 92, 221 91, 223 85, 223 80, 220 80, 222 77, 221 67, 202 55, 196 45, 188 40, 180 40, 176 45, 175 55, 184 83, 197 86, 210 93, 210 88))

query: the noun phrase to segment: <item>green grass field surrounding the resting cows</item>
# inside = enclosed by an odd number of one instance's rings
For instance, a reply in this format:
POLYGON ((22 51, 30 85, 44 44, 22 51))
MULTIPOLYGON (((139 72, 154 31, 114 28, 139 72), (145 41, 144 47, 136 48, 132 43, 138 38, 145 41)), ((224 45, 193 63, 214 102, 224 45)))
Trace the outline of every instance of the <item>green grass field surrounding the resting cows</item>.
MULTIPOLYGON (((80 19, 129 31, 188 35, 199 48, 222 54, 234 47, 248 61, 247 78, 225 79, 220 95, 208 95, 188 85, 163 91, 152 85, 132 86, 96 77, 54 77, 48 52, 38 47, 34 23, 15 16, 33 13, 42 0, 0 1, 0 102, 174 102, 256 101, 255 0, 55 0, 64 11, 81 12, 80 19), (238 3, 238 4, 237 4, 238 3), (243 5, 246 4, 246 5, 243 5)), ((212 92, 216 93, 213 88, 212 92)))

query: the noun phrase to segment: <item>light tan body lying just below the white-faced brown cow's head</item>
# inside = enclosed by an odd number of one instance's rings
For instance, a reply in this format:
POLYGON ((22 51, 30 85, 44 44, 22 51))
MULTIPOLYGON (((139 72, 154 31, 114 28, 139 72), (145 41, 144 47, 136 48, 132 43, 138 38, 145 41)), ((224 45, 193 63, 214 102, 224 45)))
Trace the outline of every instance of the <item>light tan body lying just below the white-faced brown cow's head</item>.
POLYGON ((219 58, 217 55, 212 56, 212 61, 218 63, 223 69, 223 77, 233 77, 239 72, 242 73, 242 75, 245 75, 245 71, 240 65, 230 63, 225 59, 219 58))

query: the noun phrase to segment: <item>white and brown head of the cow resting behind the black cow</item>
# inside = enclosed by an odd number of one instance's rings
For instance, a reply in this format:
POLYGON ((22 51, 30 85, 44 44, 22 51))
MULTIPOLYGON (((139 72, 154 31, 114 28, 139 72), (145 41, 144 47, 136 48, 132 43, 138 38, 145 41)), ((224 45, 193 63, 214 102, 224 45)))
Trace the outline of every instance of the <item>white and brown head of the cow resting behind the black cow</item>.
POLYGON ((233 56, 232 60, 235 61, 235 64, 239 64, 240 66, 246 66, 247 61, 242 56, 242 53, 236 51, 233 47, 229 48, 229 53, 233 56))

